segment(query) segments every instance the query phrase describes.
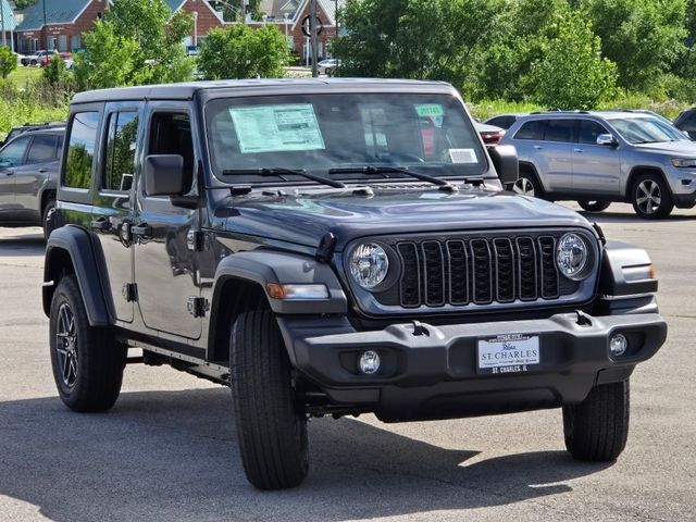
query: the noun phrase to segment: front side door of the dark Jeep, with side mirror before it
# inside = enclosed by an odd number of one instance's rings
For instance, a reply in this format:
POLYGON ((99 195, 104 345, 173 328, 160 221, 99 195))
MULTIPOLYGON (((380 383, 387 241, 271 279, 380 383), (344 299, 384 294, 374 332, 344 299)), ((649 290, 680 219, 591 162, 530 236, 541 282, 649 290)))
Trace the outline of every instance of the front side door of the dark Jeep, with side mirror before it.
MULTIPOLYGON (((181 154, 195 188, 191 115, 186 103, 151 102, 147 107, 146 152, 181 154)), ((196 313, 200 297, 197 252, 189 233, 196 232, 198 211, 174 207, 169 197, 149 197, 140 177, 134 216, 135 282, 138 304, 148 330, 197 339, 201 319, 196 313)))

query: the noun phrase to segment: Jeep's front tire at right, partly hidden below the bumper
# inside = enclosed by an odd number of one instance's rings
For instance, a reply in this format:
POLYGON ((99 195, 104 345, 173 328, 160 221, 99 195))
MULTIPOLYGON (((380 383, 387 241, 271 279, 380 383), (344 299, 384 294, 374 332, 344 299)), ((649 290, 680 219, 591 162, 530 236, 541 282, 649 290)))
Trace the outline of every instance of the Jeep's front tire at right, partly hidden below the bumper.
POLYGON ((563 407, 566 448, 579 460, 612 461, 629 438, 630 386, 595 386, 585 400, 563 407))

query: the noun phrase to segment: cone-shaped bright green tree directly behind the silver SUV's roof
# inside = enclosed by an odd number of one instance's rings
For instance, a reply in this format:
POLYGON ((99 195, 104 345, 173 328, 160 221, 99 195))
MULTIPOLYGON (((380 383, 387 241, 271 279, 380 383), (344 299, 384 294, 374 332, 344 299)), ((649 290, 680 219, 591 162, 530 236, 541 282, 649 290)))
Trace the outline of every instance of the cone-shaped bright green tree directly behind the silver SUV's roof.
POLYGON ((561 109, 596 109, 616 95, 616 64, 601 57, 601 44, 582 12, 568 12, 543 44, 544 58, 525 78, 534 101, 561 109))

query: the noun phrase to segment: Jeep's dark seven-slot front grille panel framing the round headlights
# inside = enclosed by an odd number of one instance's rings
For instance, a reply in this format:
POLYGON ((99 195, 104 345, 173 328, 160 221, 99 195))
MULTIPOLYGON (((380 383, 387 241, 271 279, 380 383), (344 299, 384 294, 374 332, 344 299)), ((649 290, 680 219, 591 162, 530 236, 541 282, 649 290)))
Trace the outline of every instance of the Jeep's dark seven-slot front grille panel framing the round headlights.
POLYGON ((370 315, 462 313, 589 302, 598 277, 599 244, 583 228, 482 231, 370 237, 389 253, 387 287, 368 291, 348 277, 356 303, 370 315), (556 265, 556 247, 567 233, 589 249, 589 276, 572 281, 556 265))

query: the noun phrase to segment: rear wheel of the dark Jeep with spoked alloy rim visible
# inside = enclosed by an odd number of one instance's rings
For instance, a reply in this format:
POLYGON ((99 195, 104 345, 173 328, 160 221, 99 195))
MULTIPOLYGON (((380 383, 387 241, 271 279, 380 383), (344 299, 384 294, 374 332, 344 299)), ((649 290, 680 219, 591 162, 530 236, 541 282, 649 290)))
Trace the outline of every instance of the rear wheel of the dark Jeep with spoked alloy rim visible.
POLYGON ((63 277, 53 294, 50 348, 53 377, 65 406, 97 412, 114 405, 127 349, 109 331, 89 325, 74 275, 63 277))

